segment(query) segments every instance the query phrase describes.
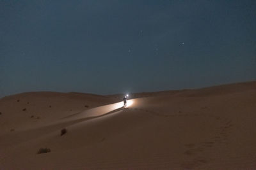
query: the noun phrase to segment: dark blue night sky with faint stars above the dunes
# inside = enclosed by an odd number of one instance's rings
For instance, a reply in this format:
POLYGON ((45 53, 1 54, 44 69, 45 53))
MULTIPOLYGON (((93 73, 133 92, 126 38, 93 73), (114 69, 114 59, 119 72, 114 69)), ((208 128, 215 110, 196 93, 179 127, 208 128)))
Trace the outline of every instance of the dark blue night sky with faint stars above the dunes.
POLYGON ((0 0, 0 97, 255 79, 255 0, 0 0))

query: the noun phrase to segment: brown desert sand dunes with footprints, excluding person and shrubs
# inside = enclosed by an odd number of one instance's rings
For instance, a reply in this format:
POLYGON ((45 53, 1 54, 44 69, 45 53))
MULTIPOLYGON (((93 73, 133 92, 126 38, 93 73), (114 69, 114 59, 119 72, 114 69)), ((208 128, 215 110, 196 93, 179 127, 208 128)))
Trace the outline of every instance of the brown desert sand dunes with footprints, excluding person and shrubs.
POLYGON ((133 97, 127 108, 120 96, 4 97, 0 169, 256 168, 256 82, 133 97))

